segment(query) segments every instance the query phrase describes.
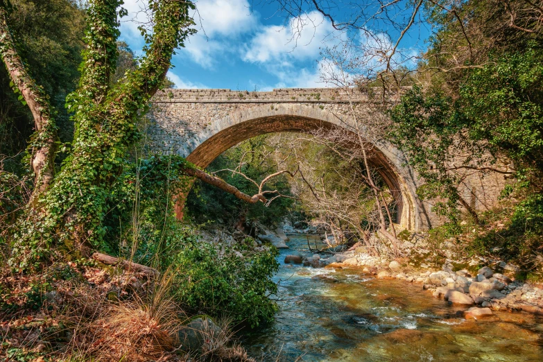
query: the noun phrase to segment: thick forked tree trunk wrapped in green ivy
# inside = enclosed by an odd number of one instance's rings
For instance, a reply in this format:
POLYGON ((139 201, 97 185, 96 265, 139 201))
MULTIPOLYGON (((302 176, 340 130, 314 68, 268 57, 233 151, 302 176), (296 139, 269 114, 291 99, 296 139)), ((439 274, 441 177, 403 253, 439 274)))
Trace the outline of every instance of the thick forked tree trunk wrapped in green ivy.
MULTIPOLYGON (((31 266, 49 257, 53 247, 76 255, 88 247, 99 247, 108 190, 121 173, 128 146, 137 140, 137 119, 164 80, 175 49, 191 33, 187 27, 193 24, 188 14, 192 3, 150 0, 155 26, 145 36, 145 56, 135 71, 111 86, 121 3, 89 3, 80 84, 67 100, 75 123, 72 152, 49 188, 28 205, 13 249, 14 266, 31 266)), ((1 5, 5 14, 6 3, 1 5)), ((5 28, 9 33, 8 24, 5 28)), ((2 46, 8 48, 7 53, 15 51, 12 43, 3 40, 2 46)), ((10 75, 16 83, 14 74, 10 75)), ((24 79, 19 89, 29 84, 24 79)))

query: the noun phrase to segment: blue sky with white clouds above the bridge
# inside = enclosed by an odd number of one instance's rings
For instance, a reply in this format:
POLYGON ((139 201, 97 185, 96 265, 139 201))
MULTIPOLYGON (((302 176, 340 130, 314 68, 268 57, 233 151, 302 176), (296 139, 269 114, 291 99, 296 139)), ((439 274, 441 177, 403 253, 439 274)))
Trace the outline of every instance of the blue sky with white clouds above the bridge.
MULTIPOLYGON (((136 53, 143 40, 137 22, 146 0, 124 0, 129 16, 121 22, 121 40, 136 53)), ((173 57, 169 78, 178 88, 269 90, 326 87, 321 51, 346 40, 318 12, 288 18, 277 6, 250 0, 198 0, 198 33, 173 57), (253 7, 250 6, 252 3, 253 7), (297 32, 298 24, 304 24, 297 32)), ((350 35, 356 37, 356 34, 350 35)), ((406 53, 424 49, 426 30, 414 29, 402 43, 406 53), (413 34, 413 35, 411 35, 413 34)), ((388 41, 387 39, 385 39, 388 41)), ((363 41, 363 40, 359 40, 363 41)))

